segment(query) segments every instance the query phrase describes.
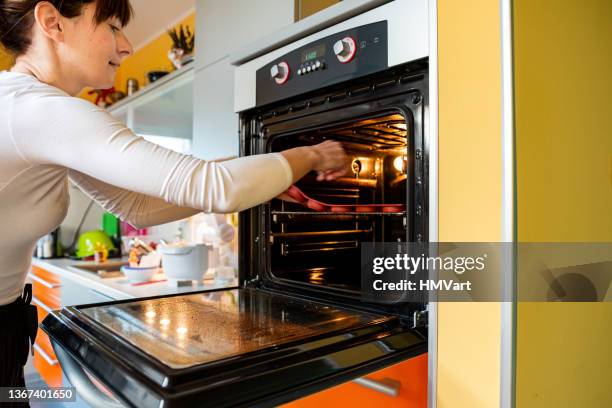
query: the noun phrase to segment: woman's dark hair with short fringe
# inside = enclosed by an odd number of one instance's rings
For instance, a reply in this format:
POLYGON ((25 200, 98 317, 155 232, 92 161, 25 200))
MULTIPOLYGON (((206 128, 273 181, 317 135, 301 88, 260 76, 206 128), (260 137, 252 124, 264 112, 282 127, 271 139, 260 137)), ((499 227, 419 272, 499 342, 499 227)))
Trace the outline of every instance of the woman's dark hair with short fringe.
POLYGON ((96 3, 96 24, 115 17, 125 26, 134 13, 130 0, 0 0, 0 42, 15 56, 25 53, 32 42, 34 8, 42 1, 53 4, 67 18, 81 15, 84 5, 96 3))

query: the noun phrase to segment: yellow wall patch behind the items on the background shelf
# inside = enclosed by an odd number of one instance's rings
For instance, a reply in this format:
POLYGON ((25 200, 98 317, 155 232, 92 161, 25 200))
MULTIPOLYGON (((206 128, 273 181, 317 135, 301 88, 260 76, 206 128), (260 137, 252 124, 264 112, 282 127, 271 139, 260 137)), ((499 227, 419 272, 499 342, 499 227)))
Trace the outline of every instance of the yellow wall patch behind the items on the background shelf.
MULTIPOLYGON (((195 27, 195 13, 189 15, 176 25, 188 25, 193 32, 195 27)), ((172 71, 174 69, 172 63, 168 59, 168 50, 172 47, 172 40, 165 32, 159 37, 149 42, 142 48, 136 50, 133 55, 126 58, 117 70, 115 78, 115 89, 126 92, 126 81, 128 78, 136 78, 140 87, 147 84, 146 73, 153 70, 172 71)), ((95 100, 95 96, 86 94, 87 91, 81 93, 81 97, 89 100, 95 100)))

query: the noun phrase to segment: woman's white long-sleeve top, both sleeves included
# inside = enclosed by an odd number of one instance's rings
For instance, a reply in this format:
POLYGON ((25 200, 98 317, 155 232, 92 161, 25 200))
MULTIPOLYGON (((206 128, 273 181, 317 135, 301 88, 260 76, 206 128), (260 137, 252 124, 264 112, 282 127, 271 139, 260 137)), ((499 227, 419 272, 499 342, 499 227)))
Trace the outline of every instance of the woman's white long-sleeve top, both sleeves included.
POLYGON ((122 220, 149 226, 255 206, 292 177, 279 153, 203 161, 33 76, 1 72, 0 305, 21 295, 36 241, 64 219, 69 179, 122 220))

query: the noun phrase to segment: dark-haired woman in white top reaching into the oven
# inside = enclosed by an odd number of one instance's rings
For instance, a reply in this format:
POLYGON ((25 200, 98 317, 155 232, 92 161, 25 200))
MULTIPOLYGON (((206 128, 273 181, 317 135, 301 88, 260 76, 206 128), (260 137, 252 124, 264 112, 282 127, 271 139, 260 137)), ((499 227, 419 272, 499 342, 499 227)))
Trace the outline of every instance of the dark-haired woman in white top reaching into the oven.
MULTIPOLYGON (((324 142, 281 153, 204 162, 136 136, 103 109, 74 97, 109 88, 132 53, 122 28, 129 0, 0 0, 0 386, 23 385, 28 294, 36 240, 68 207, 68 179, 135 226, 199 211, 234 212, 282 193, 310 171, 344 174, 346 155, 324 142), (20 312, 15 312, 20 310, 20 312)), ((229 135, 220 135, 229 137, 229 135)))

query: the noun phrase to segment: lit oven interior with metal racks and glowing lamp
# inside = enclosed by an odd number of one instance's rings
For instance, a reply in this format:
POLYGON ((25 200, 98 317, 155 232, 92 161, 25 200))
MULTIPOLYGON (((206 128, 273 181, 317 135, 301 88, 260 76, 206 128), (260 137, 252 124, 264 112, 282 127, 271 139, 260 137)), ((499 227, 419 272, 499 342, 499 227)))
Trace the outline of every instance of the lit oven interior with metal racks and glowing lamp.
MULTIPOLYGON (((384 112, 310 132, 270 138, 278 152, 325 140, 342 142, 345 176, 317 181, 313 172, 296 183, 307 196, 351 211, 314 211, 280 199, 269 204, 269 271, 273 278, 358 295, 361 242, 409 241, 412 123, 400 111, 384 112), (368 204, 403 204, 383 212, 368 204)), ((337 211, 337 210, 336 210, 337 211)))

